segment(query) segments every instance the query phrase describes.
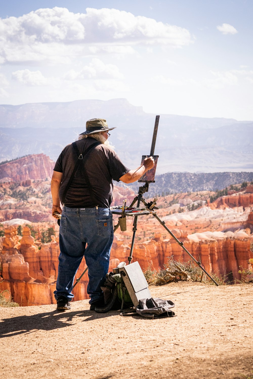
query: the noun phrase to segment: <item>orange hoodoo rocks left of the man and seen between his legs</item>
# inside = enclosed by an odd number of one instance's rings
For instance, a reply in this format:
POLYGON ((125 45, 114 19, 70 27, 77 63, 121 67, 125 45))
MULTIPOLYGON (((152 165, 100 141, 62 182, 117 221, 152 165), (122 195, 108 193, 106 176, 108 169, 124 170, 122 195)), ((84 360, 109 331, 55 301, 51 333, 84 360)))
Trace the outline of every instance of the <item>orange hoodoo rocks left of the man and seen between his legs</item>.
MULTIPOLYGON (((23 237, 19 242, 17 229, 5 229, 3 250, 0 254, 2 277, 0 291, 8 290, 15 302, 20 305, 55 304, 55 291, 58 275, 59 240, 52 236, 52 242, 42 244, 41 249, 34 243, 28 227, 23 228, 23 237)), ((77 277, 85 269, 82 262, 77 277)), ((88 299, 88 274, 74 288, 75 300, 88 299)))

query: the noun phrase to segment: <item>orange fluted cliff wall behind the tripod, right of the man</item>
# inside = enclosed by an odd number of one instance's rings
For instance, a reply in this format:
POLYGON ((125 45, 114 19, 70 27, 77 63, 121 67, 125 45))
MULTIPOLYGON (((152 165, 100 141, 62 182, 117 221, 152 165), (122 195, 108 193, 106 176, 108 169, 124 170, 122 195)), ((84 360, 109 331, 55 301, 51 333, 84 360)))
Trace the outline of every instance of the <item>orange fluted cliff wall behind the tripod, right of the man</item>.
MULTIPOLYGON (((172 230, 172 232, 179 241, 184 243, 184 247, 190 254, 197 261, 200 260, 201 265, 208 273, 215 273, 217 276, 232 273, 233 279, 240 280, 242 275, 238 273, 239 269, 250 267, 247 260, 253 258, 253 253, 250 250, 253 238, 247 236, 246 233, 242 234, 241 238, 224 235, 224 238, 216 240, 208 238, 190 240, 190 236, 184 238, 184 233, 180 233, 181 231, 172 230), (183 238, 180 234, 183 235, 183 238)), ((231 235, 233 234, 231 233, 231 235)), ((113 242, 112 257, 127 262, 129 252, 130 243, 117 240, 113 242)), ((152 269, 158 269, 163 267, 171 255, 176 261, 187 262, 190 259, 187 252, 172 237, 163 239, 160 233, 157 233, 152 240, 135 243, 133 260, 138 260, 141 268, 147 268, 150 265, 152 269)))

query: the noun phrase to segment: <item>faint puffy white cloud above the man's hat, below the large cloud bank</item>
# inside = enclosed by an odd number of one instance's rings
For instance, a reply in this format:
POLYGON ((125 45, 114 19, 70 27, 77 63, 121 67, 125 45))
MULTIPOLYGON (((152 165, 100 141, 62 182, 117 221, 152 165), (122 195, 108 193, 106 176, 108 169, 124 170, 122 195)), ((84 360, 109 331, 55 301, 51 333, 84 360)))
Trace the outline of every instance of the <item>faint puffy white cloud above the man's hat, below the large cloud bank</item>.
POLYGON ((66 80, 76 80, 76 79, 122 79, 123 74, 119 72, 119 69, 115 64, 105 64, 98 58, 93 58, 88 66, 84 66, 82 70, 75 71, 70 70, 64 75, 66 80))

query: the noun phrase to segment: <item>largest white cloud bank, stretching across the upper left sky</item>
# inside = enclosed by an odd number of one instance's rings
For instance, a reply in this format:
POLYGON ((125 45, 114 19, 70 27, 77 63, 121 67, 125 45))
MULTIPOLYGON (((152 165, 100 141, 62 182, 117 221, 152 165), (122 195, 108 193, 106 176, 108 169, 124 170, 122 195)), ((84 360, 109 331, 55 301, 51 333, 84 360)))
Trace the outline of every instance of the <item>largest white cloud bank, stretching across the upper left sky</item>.
POLYGON ((107 8, 87 8, 81 14, 59 7, 38 9, 0 19, 0 31, 0 63, 70 63, 89 45, 91 53, 97 46, 108 53, 132 54, 137 44, 182 47, 193 42, 185 28, 107 8))

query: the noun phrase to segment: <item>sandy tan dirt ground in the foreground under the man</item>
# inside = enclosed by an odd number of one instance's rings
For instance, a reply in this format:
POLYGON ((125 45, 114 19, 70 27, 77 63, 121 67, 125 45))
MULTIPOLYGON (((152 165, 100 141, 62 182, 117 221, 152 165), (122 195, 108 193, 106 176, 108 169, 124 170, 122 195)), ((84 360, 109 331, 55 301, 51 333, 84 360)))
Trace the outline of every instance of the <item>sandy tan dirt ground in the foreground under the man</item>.
POLYGON ((176 317, 99 314, 88 300, 0 308, 0 377, 253 378, 253 285, 149 287, 176 317))

